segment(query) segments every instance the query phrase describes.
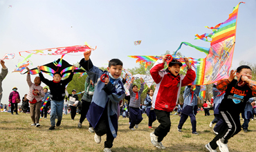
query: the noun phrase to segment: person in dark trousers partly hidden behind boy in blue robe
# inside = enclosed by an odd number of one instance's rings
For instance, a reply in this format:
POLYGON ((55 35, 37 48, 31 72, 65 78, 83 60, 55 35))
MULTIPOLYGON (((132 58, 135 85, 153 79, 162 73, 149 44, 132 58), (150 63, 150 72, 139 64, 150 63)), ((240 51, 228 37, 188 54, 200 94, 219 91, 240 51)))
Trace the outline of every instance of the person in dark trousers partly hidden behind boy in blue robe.
MULTIPOLYGON (((82 109, 81 109, 81 117, 77 124, 78 128, 82 127, 82 122, 84 122, 84 119, 86 118, 86 114, 89 111, 89 106, 91 105, 91 99, 93 99, 93 93, 94 93, 94 85, 93 81, 89 76, 86 77, 85 83, 84 83, 84 95, 82 96, 82 109)), ((89 123, 89 132, 94 133, 93 127, 89 123)))

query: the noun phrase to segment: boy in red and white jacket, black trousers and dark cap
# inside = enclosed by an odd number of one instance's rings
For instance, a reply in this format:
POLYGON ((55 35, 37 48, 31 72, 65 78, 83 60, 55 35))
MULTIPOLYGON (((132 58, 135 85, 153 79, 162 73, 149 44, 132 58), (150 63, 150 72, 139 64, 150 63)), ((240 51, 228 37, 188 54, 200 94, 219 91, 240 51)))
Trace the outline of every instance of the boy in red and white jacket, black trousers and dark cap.
POLYGON ((165 149, 162 140, 170 131, 170 113, 178 102, 181 86, 187 86, 196 79, 194 67, 190 66, 190 60, 187 57, 184 58, 185 64, 188 66, 185 76, 179 74, 182 64, 176 59, 172 59, 168 68, 162 70, 166 59, 167 55, 163 56, 163 60, 158 59, 150 70, 152 78, 156 82, 152 106, 160 123, 155 131, 150 133, 150 138, 152 144, 158 149, 165 149))

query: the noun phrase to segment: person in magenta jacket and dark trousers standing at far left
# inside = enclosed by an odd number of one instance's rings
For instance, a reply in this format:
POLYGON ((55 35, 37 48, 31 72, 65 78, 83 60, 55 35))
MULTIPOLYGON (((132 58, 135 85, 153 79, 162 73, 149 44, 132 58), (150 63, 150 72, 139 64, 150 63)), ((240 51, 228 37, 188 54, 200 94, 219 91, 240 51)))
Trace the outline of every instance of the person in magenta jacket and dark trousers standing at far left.
POLYGON ((19 93, 17 90, 18 90, 17 87, 12 88, 12 92, 9 95, 9 103, 11 104, 10 112, 12 113, 12 115, 13 115, 14 108, 15 108, 16 115, 19 115, 18 114, 18 103, 21 101, 21 99, 19 97, 19 93))

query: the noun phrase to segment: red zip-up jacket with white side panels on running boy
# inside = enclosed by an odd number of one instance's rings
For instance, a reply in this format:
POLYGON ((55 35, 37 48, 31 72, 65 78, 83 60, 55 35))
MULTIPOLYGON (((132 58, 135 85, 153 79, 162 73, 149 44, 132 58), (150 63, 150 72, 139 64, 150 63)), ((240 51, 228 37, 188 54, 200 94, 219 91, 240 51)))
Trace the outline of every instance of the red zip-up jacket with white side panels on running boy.
POLYGON ((194 67, 191 66, 185 76, 179 74, 175 77, 172 73, 162 70, 164 65, 165 63, 158 59, 150 69, 150 74, 156 82, 152 107, 157 110, 172 112, 178 102, 181 86, 187 86, 194 82, 196 73, 194 67))

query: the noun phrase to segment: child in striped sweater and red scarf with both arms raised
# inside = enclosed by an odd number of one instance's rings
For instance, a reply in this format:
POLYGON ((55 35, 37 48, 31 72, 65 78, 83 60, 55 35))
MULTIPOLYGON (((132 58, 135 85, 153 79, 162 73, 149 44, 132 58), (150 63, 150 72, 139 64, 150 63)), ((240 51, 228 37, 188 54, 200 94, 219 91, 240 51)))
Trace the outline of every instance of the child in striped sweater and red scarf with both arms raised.
POLYGON ((140 95, 144 90, 143 78, 140 77, 140 91, 138 91, 138 86, 133 85, 134 79, 134 77, 131 78, 131 84, 129 86, 129 93, 131 97, 129 105, 131 124, 129 129, 131 129, 131 131, 135 131, 134 126, 136 129, 138 129, 138 124, 140 124, 140 122, 143 120, 140 111, 140 95))

